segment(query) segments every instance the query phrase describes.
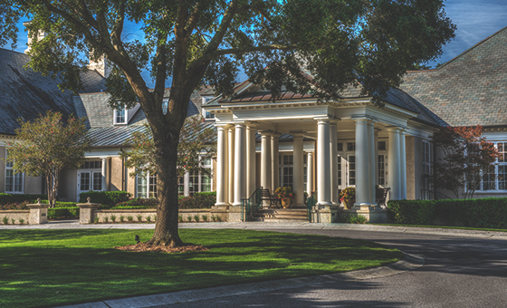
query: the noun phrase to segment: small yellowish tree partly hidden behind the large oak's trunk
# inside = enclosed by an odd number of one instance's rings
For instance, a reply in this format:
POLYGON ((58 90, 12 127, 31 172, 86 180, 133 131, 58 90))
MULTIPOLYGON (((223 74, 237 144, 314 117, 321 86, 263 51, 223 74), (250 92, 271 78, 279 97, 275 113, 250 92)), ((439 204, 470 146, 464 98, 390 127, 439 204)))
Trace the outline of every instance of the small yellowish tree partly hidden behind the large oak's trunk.
MULTIPOLYGON (((205 168, 203 161, 212 159, 215 156, 216 132, 211 127, 202 125, 203 118, 194 116, 187 118, 179 135, 177 145, 177 179, 191 174, 211 176, 209 168, 205 168)), ((128 140, 132 147, 130 151, 121 151, 120 156, 127 159, 125 166, 134 168, 129 176, 134 178, 137 175, 155 174, 155 146, 153 144, 153 133, 148 124, 143 130, 136 131, 128 140)))

